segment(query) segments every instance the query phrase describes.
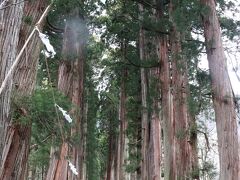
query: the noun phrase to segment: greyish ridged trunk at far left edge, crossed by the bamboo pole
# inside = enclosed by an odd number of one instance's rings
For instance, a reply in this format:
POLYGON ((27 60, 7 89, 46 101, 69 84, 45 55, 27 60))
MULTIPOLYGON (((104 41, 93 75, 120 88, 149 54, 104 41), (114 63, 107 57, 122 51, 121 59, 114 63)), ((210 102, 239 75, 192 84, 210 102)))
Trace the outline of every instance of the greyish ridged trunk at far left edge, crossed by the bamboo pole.
MULTIPOLYGON (((17 0, 9 1, 16 3, 17 0)), ((2 0, 0 3, 7 6, 2 0)), ((23 15, 24 4, 18 4, 6 9, 0 10, 0 83, 2 84, 7 72, 10 69, 17 53, 17 43, 19 40, 20 25, 23 15)), ((0 95, 0 165, 3 163, 3 148, 5 146, 6 134, 9 131, 9 110, 10 93, 12 81, 0 95)))

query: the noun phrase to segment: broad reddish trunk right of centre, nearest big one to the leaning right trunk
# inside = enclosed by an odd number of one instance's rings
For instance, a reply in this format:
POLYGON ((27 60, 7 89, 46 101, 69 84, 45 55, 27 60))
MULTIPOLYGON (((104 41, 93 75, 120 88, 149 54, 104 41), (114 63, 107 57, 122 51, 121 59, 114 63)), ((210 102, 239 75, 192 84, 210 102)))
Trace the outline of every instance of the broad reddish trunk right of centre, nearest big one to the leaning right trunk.
MULTIPOLYGON (((174 34, 177 33, 176 31, 174 34)), ((176 35, 172 41, 173 70, 173 133, 174 157, 176 164, 175 179, 187 179, 191 174, 191 147, 189 143, 189 113, 187 105, 186 63, 181 58, 180 39, 176 35)), ((186 61, 186 60, 185 60, 186 61)))

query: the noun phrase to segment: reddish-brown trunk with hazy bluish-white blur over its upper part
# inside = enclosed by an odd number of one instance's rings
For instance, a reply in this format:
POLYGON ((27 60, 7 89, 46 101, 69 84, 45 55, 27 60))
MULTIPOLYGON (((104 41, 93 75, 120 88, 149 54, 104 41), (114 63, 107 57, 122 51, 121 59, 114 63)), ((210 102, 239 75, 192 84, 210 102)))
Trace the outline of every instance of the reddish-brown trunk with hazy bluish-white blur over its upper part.
POLYGON ((86 27, 83 19, 73 12, 66 22, 63 42, 64 60, 59 65, 58 89, 68 96, 75 105, 71 110, 75 125, 71 130, 72 136, 77 136, 79 142, 74 142, 72 148, 63 142, 60 157, 52 157, 48 169, 47 180, 83 180, 86 176, 85 160, 85 126, 83 122, 83 78, 84 78, 84 39, 86 39, 86 27), (68 169, 68 159, 77 168, 78 175, 74 177, 68 169))

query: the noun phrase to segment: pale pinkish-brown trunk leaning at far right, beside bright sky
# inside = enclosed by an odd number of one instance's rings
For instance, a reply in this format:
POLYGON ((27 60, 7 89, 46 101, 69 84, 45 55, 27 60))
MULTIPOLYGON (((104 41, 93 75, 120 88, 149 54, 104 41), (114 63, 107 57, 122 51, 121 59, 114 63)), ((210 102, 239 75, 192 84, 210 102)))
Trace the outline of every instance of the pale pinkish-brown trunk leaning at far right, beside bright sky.
POLYGON ((220 180, 237 180, 240 179, 240 164, 234 94, 222 45, 216 1, 201 0, 201 3, 208 10, 202 18, 217 124, 220 180))

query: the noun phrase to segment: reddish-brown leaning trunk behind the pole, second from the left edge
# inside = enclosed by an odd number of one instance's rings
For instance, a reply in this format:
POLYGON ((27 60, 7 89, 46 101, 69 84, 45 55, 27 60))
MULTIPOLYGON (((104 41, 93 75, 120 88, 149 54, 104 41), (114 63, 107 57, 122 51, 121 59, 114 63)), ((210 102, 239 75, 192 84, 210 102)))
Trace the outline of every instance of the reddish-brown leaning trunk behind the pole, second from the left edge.
MULTIPOLYGON (((42 14, 42 9, 46 5, 45 0, 38 2, 25 2, 24 16, 31 16, 31 24, 23 23, 20 30, 18 51, 21 50, 28 35, 31 33, 33 26, 42 14)), ((18 67, 14 73, 14 98, 29 96, 34 90, 38 56, 40 53, 40 39, 37 34, 32 38, 26 49, 26 53, 21 57, 18 67)), ((26 116, 27 110, 23 107, 17 107, 21 115, 26 116)), ((26 125, 10 121, 6 134, 5 146, 3 149, 3 161, 0 179, 24 179, 26 175, 27 160, 29 155, 29 146, 31 138, 31 122, 26 125)))

